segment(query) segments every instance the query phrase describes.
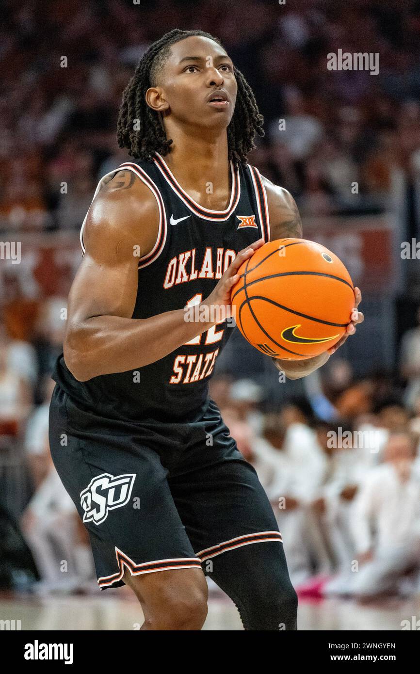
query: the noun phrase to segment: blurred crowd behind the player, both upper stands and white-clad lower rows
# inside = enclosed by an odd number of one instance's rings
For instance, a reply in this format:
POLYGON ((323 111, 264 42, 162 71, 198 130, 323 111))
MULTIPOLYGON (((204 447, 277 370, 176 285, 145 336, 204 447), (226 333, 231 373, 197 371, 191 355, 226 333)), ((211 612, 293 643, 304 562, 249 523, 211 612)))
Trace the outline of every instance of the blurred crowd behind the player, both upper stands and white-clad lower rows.
MULTIPOLYGON (((123 88, 175 26, 216 35, 243 71, 266 129, 250 161, 303 216, 392 208, 403 238, 420 237, 419 0, 4 0, 0 232, 76 234, 100 177, 127 160, 115 140, 123 88), (379 74, 328 71, 338 49, 380 53, 379 74)), ((92 556, 48 446, 65 293, 28 299, 13 279, 1 299, 0 505, 40 591, 80 591, 96 586, 92 556), (15 464, 26 478, 7 501, 15 464)), ((420 327, 398 357, 394 375, 361 378, 338 352, 274 410, 264 386, 216 368, 211 396, 266 489, 301 595, 420 591, 420 327)))

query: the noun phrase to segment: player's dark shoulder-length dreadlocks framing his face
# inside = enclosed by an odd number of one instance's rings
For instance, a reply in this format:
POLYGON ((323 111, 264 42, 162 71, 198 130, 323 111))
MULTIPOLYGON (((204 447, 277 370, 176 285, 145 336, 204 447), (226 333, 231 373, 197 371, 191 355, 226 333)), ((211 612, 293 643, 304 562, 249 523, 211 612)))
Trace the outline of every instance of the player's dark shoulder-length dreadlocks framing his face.
MULTIPOLYGON (((154 152, 169 152, 171 139, 167 139, 159 113, 146 103, 145 95, 156 83, 156 75, 169 57, 171 45, 191 35, 200 35, 220 44, 220 40, 202 30, 171 30, 156 40, 144 53, 133 77, 123 92, 119 109, 117 141, 120 148, 127 148, 129 155, 152 161, 154 152)), ((220 44, 220 46, 222 46, 220 44)), ((242 73, 233 68, 237 81, 237 99, 231 123, 227 128, 229 159, 246 162, 247 153, 255 147, 256 133, 262 136, 263 117, 258 112, 253 92, 242 73)))

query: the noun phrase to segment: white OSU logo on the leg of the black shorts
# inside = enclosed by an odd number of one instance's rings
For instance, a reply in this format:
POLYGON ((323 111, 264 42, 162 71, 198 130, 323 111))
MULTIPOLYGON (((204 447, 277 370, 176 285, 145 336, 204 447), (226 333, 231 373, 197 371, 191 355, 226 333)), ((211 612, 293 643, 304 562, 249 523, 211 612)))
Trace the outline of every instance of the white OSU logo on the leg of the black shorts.
POLYGON ((80 492, 80 505, 84 510, 83 521, 100 524, 107 519, 110 510, 127 503, 133 489, 136 474, 117 475, 109 472, 94 477, 88 487, 80 492))

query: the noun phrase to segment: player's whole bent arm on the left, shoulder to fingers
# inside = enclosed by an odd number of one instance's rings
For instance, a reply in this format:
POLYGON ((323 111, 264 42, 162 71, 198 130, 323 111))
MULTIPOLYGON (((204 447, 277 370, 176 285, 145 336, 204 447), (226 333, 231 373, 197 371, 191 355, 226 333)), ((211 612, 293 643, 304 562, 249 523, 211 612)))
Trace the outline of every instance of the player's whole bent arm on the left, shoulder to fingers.
MULTIPOLYGON (((157 233, 158 206, 150 189, 132 171, 119 171, 90 207, 86 253, 69 293, 63 352, 78 381, 154 363, 215 324, 185 321, 182 307, 147 319, 131 318, 138 290, 136 253, 149 253, 157 233)), ((250 254, 237 255, 208 300, 222 303, 230 296, 235 272, 250 254)))

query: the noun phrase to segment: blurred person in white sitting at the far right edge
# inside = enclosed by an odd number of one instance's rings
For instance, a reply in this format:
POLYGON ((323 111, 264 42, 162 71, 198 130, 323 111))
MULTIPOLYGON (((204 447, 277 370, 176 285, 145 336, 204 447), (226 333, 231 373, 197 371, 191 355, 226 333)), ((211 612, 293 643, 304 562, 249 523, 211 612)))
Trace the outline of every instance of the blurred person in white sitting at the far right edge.
POLYGON ((353 503, 351 530, 357 565, 334 579, 329 593, 369 598, 419 590, 420 479, 417 441, 407 431, 392 433, 384 463, 365 477, 353 503), (407 578, 411 573, 412 577, 407 578))

